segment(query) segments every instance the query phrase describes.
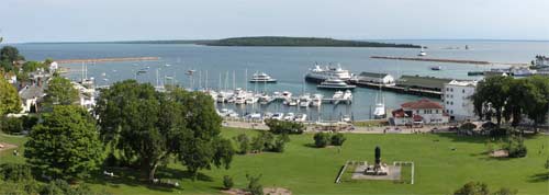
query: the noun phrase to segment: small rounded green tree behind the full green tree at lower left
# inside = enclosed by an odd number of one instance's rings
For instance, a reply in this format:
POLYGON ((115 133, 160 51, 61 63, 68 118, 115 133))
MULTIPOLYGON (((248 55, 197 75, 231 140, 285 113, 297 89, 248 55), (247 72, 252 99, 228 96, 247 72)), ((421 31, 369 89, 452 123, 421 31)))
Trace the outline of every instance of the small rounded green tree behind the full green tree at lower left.
POLYGON ((49 104, 70 105, 78 101, 78 90, 66 78, 54 77, 45 91, 45 101, 49 104))

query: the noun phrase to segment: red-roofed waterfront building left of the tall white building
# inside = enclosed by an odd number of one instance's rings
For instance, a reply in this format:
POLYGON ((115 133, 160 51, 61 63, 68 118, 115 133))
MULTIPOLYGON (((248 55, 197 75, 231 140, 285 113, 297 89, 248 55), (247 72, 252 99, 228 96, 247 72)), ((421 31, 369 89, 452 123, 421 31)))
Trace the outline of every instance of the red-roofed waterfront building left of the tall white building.
POLYGON ((393 111, 392 115, 393 125, 445 124, 449 118, 442 105, 427 99, 401 104, 401 108, 393 111))

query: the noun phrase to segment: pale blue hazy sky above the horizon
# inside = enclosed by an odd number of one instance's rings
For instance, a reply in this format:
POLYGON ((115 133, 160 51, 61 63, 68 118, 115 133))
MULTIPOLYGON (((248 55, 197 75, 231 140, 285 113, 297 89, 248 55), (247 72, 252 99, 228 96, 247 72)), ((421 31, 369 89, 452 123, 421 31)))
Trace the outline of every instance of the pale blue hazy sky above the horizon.
POLYGON ((1 0, 7 43, 549 39, 549 0, 1 0))

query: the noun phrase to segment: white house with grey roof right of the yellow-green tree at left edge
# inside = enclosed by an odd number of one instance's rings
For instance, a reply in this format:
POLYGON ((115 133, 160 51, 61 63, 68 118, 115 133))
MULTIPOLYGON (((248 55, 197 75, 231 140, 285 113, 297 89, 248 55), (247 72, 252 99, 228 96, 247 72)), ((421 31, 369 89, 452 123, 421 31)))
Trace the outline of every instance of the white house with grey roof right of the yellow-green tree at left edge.
POLYGON ((45 96, 44 88, 41 85, 26 85, 19 91, 19 96, 22 101, 21 113, 38 112, 38 103, 45 96))

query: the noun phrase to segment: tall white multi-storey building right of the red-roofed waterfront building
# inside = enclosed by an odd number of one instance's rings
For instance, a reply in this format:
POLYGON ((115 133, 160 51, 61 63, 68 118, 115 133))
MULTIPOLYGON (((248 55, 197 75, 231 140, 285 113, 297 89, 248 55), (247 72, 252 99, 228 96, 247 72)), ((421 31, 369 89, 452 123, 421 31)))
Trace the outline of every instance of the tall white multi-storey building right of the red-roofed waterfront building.
POLYGON ((467 121, 474 119, 473 101, 470 99, 474 94, 477 81, 456 81, 445 84, 442 90, 442 101, 445 112, 450 115, 450 119, 467 121))

